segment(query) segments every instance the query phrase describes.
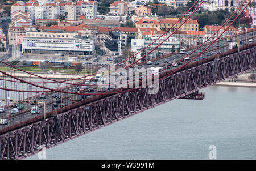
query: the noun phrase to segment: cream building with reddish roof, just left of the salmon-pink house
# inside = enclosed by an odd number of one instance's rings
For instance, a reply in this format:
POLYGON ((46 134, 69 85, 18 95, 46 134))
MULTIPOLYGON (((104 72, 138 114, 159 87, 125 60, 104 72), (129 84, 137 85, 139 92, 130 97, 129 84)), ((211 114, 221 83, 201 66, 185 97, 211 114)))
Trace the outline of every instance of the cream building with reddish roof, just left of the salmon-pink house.
POLYGON ((123 1, 115 1, 109 5, 109 14, 111 15, 126 15, 128 14, 128 5, 123 1))

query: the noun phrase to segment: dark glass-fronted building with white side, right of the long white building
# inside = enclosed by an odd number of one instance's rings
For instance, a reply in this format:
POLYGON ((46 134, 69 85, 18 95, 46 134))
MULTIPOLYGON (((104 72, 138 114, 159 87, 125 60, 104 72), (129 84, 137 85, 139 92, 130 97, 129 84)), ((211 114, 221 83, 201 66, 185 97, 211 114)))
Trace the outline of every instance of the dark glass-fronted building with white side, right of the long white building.
POLYGON ((122 49, 126 47, 127 35, 121 31, 110 31, 105 36, 105 50, 113 56, 122 55, 122 49))

